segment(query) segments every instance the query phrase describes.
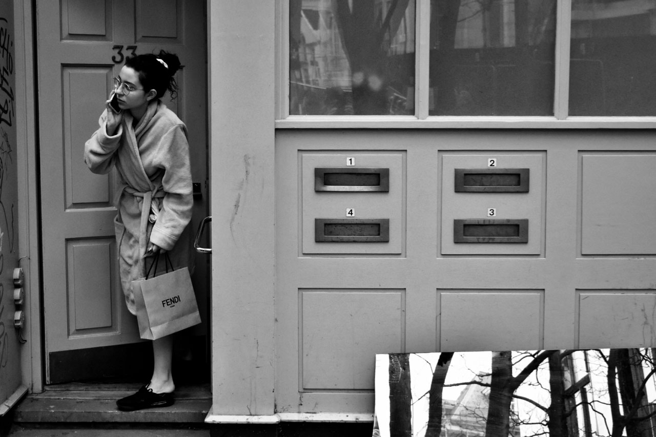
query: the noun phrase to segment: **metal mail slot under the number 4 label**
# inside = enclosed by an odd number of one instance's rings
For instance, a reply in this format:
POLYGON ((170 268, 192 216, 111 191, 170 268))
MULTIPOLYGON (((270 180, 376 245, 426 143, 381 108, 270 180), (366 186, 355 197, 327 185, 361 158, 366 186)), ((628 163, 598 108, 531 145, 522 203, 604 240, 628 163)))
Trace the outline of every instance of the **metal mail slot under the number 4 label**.
POLYGON ((314 241, 318 243, 387 243, 389 218, 315 218, 314 241))

